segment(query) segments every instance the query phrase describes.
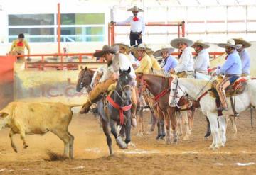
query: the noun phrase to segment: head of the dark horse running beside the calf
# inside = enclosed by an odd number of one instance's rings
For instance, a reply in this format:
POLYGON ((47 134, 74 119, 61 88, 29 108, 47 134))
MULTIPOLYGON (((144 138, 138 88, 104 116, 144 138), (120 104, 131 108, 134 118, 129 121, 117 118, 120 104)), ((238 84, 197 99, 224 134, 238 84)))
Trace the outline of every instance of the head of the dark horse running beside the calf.
POLYGON ((127 101, 131 99, 132 96, 132 77, 130 76, 131 68, 129 67, 126 71, 121 71, 119 69, 119 80, 117 81, 117 91, 122 94, 122 99, 127 101))

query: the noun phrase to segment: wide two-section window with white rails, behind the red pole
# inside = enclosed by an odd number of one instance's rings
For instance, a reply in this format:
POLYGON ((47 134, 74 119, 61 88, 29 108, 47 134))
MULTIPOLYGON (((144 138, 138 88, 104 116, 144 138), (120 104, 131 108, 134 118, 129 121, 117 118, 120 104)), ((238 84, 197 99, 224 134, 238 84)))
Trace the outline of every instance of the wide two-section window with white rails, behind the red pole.
MULTIPOLYGON (((8 16, 9 42, 24 33, 28 42, 57 41, 55 14, 26 14, 8 16)), ((62 42, 105 41, 105 13, 61 14, 60 38, 62 42)))

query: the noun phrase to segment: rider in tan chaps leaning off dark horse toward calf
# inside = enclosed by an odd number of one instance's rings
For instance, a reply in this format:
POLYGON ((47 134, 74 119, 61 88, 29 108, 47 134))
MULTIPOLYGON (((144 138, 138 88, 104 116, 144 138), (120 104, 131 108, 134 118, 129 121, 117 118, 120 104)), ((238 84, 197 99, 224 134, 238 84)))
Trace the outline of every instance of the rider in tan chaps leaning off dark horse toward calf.
MULTIPOLYGON (((110 45, 104 45, 102 51, 95 52, 95 57, 104 57, 107 60, 107 67, 103 71, 103 75, 87 98, 87 101, 82 106, 80 113, 87 113, 90 110, 90 106, 92 103, 97 102, 97 98, 100 94, 106 92, 110 85, 114 84, 119 75, 119 69, 127 70, 129 67, 131 68, 131 72, 129 73, 131 77, 134 79, 134 86, 136 84, 135 79, 136 75, 134 69, 132 67, 132 63, 129 62, 127 56, 122 53, 118 53, 118 47, 111 47, 110 45)), ((134 86, 132 86, 132 125, 136 125, 135 119, 135 111, 137 108, 137 99, 134 86)))

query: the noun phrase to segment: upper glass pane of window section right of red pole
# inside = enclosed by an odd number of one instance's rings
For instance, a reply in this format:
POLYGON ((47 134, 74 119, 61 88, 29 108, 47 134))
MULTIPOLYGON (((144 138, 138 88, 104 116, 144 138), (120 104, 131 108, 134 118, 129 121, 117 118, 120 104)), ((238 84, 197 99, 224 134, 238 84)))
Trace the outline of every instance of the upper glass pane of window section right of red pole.
POLYGON ((61 14, 60 21, 62 25, 105 24, 105 14, 104 13, 61 14))

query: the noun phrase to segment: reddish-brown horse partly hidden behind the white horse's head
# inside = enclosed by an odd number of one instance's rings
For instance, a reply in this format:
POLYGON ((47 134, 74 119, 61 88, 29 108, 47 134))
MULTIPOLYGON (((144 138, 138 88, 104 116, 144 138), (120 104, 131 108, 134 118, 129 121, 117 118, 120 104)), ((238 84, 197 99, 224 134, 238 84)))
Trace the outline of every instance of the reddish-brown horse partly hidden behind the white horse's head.
MULTIPOLYGON (((153 94, 156 98, 156 101, 158 101, 158 106, 161 109, 160 113, 163 113, 165 123, 166 123, 166 142, 171 142, 171 130, 170 130, 170 124, 171 129, 173 130, 174 140, 173 142, 178 141, 178 135, 177 135, 177 120, 176 120, 176 111, 180 111, 179 108, 173 108, 169 106, 169 93, 170 93, 170 82, 173 79, 172 77, 167 78, 163 76, 159 76, 156 74, 142 74, 139 76, 139 79, 142 81, 142 84, 146 86, 147 89, 153 94)), ((179 103, 180 106, 186 105, 186 101, 181 101, 179 103)), ((193 112, 188 113, 191 115, 188 115, 188 123, 190 123, 189 128, 192 128, 193 125, 193 112)))

